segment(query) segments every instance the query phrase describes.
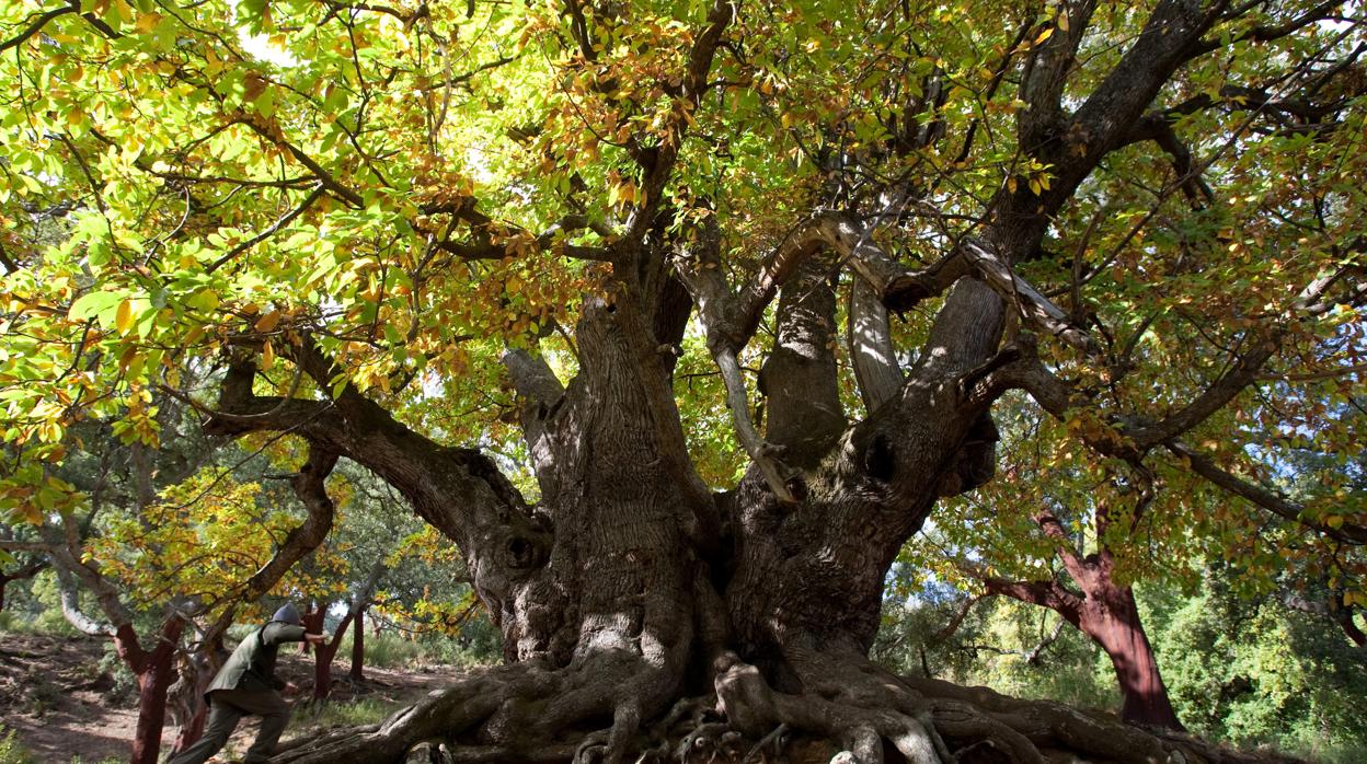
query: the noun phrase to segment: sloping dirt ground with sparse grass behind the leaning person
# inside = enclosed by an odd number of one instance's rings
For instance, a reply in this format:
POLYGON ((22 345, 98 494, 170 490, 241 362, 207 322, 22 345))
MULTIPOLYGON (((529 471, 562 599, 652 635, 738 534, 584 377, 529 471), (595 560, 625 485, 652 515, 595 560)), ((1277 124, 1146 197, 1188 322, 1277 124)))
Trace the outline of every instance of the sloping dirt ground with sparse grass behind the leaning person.
MULTIPOLYGON (((127 761, 138 718, 137 689, 131 677, 120 686, 109 663, 101 664, 104 657, 101 640, 0 633, 0 741, 12 730, 33 760, 44 764, 127 761)), ((299 693, 287 698, 294 716, 284 739, 331 724, 377 720, 462 671, 448 666, 366 667, 365 682, 353 685, 346 679, 349 670, 342 657, 334 663, 331 702, 314 711, 302 700, 313 696, 313 656, 280 651, 276 674, 299 686, 299 693)), ((246 750, 256 730, 254 720, 243 720, 227 750, 246 750)), ((175 734, 168 720, 163 746, 175 734)), ((211 761, 227 759, 220 754, 211 761)))

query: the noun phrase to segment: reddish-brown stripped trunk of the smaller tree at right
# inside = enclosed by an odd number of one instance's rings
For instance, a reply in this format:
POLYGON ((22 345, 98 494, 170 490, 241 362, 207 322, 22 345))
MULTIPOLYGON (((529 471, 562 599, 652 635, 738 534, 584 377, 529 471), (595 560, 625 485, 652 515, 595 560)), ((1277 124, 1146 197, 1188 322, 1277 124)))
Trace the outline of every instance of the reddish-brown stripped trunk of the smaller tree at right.
POLYGON ((1158 671, 1154 648, 1139 619, 1135 592, 1110 578, 1088 588, 1079 627, 1110 657, 1120 683, 1120 716, 1125 722, 1182 730, 1158 671))

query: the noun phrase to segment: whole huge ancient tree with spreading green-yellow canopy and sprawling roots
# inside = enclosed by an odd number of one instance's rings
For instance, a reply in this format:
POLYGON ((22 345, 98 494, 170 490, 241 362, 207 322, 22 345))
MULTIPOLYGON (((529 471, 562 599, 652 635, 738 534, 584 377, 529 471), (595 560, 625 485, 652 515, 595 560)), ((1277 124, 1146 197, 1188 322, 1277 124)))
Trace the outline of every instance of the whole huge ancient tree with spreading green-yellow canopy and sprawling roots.
POLYGON ((1213 756, 867 659, 904 543, 1005 480, 1010 391, 1367 537, 1244 447, 1351 436, 1307 402, 1359 372, 1353 4, 145 5, 5 11, 7 500, 56 500, 72 418, 154 441, 159 388, 302 440, 320 513, 372 470, 503 633, 282 761, 1213 756))

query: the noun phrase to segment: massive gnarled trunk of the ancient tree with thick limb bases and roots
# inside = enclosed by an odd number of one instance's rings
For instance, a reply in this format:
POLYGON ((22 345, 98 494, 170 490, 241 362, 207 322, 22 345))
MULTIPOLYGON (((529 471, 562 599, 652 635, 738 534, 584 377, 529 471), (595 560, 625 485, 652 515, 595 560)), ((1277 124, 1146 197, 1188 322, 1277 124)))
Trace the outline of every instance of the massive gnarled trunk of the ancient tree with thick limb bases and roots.
MULTIPOLYGON (((917 763, 980 745, 1039 761, 1040 746, 1068 737, 1062 720, 1017 730, 1024 716, 928 696, 867 659, 901 544, 936 497, 991 473, 982 391, 1007 362, 994 361, 1003 308, 982 282, 960 280, 906 384, 849 425, 834 385, 831 273, 811 258, 783 286, 760 374, 766 448, 791 500, 757 467, 730 492, 703 485, 670 390, 688 303, 627 284, 585 308, 567 385, 533 355, 507 358, 534 506, 483 454, 439 447, 354 390, 328 405, 261 398, 246 387, 250 361, 238 361, 211 428, 294 426, 395 484, 465 554, 509 661, 379 728, 301 741, 278 760, 396 761, 436 739, 459 760, 622 761, 666 756, 684 738, 725 750, 796 730, 864 763, 882 761, 884 743, 917 763)), ((310 346, 293 359, 331 373, 310 346)), ((1114 738, 1095 741, 1088 750, 1117 753, 1114 738)), ((1151 738, 1144 756, 1163 745, 1151 738)))

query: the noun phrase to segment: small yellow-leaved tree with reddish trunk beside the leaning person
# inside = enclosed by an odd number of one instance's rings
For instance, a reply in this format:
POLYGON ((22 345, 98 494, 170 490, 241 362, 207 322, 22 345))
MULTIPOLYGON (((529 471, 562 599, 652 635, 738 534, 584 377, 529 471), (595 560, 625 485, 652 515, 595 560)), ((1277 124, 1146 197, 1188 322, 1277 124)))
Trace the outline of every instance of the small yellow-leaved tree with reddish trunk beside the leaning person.
MULTIPOLYGON (((48 488, 64 499, 77 493, 53 487, 79 487, 89 500, 59 499, 40 525, 19 526, 19 533, 0 540, 52 566, 63 616, 81 633, 108 637, 135 677, 135 764, 159 760, 178 653, 204 663, 213 651, 206 646, 211 623, 226 611, 253 607, 280 584, 294 562, 288 555, 317 547, 305 538, 309 522, 299 525, 294 514, 272 506, 287 503, 284 495, 262 495, 227 467, 202 466, 224 455, 194 432, 179 435, 183 409, 152 413, 156 429, 170 435, 163 448, 122 443, 118 428, 103 421, 72 428, 66 439, 70 450, 48 488), (197 619, 208 622, 201 626, 197 619), (204 631, 198 640, 185 640, 197 648, 182 641, 187 626, 204 631)), ((241 459, 231 451, 228 458, 241 459)))

